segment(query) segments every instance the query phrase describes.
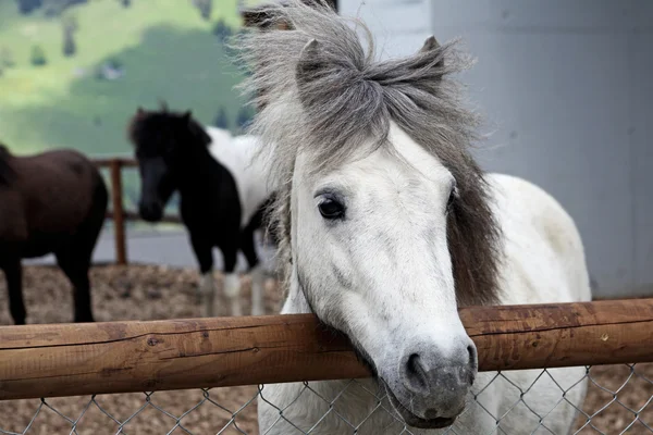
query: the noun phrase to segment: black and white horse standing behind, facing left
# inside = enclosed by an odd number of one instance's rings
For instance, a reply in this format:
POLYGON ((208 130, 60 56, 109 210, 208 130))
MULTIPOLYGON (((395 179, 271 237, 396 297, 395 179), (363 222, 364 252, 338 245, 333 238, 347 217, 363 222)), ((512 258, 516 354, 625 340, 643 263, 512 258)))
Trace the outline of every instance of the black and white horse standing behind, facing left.
POLYGON ((138 109, 128 125, 141 179, 139 214, 148 222, 163 216, 172 194, 180 194, 180 213, 199 262, 205 315, 214 313, 212 249, 222 251, 224 293, 233 315, 241 315, 238 251, 251 276, 251 313, 263 313, 264 269, 255 248, 255 233, 262 228, 264 210, 272 198, 266 169, 251 157, 252 136, 204 127, 190 111, 176 113, 138 109))

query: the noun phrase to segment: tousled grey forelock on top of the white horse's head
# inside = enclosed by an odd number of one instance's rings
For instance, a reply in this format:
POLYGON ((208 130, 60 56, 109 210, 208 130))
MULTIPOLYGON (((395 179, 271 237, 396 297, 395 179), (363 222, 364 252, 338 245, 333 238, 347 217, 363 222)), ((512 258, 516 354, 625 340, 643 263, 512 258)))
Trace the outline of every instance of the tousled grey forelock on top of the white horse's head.
POLYGON ((299 147, 322 167, 337 164, 364 145, 383 145, 391 120, 432 152, 475 139, 479 119, 448 78, 469 64, 455 42, 379 61, 365 24, 324 1, 291 0, 260 11, 267 30, 246 32, 235 48, 250 69, 242 88, 261 108, 250 132, 270 145, 264 150, 275 167, 287 169, 299 147), (276 29, 282 24, 289 29, 276 29), (300 54, 311 39, 316 59, 304 65, 300 54), (306 79, 298 82, 298 69, 306 79))

